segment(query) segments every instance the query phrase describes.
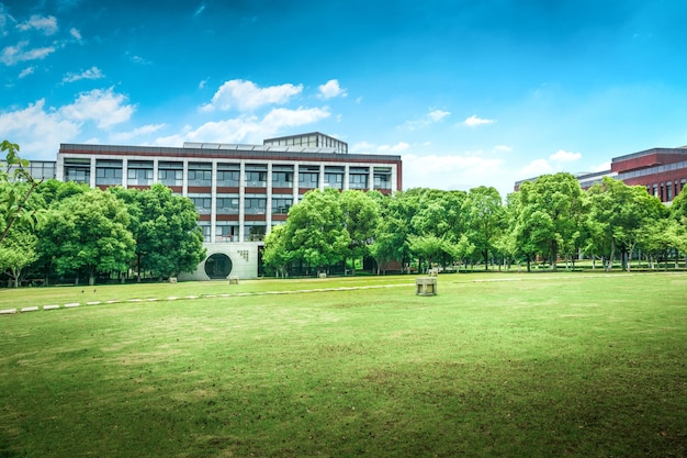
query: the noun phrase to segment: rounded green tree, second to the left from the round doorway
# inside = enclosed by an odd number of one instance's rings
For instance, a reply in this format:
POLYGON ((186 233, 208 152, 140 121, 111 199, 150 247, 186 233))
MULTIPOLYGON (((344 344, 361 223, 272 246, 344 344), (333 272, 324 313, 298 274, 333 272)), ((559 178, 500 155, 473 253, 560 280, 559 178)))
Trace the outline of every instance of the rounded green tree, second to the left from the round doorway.
POLYGON ((114 194, 91 189, 57 203, 48 213, 44 249, 63 275, 85 270, 89 284, 98 272, 121 272, 134 257, 128 212, 114 194))

